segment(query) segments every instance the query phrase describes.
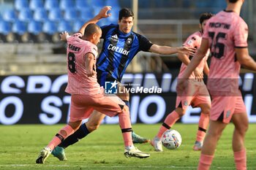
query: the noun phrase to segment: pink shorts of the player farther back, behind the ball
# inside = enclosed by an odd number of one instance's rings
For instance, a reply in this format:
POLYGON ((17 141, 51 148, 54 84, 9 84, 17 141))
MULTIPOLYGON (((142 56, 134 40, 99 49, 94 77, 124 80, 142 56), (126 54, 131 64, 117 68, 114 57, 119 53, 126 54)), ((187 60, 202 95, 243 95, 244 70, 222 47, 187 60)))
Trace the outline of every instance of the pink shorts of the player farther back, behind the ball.
POLYGON ((197 107, 198 104, 209 104, 211 106, 211 97, 206 85, 203 82, 191 82, 184 92, 178 93, 176 98, 176 107, 187 109, 189 105, 197 107))

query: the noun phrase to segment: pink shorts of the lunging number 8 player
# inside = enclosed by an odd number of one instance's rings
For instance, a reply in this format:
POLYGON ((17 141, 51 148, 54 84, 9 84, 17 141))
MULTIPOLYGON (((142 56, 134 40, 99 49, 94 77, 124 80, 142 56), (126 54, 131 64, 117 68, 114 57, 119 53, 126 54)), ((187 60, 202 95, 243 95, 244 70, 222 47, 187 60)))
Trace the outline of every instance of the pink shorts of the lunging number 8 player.
POLYGON ((91 112, 93 112, 94 109, 113 117, 118 113, 121 113, 124 106, 124 101, 115 95, 105 96, 104 93, 99 93, 93 96, 72 95, 69 121, 74 122, 86 119, 91 115, 91 112))

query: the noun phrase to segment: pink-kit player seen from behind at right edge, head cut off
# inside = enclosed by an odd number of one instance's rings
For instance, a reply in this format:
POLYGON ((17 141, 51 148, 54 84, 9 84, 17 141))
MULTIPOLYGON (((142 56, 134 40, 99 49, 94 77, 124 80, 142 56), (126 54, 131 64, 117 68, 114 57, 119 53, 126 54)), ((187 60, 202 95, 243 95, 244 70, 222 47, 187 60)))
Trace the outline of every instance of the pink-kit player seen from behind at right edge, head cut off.
POLYGON ((197 167, 200 170, 210 169, 217 142, 230 120, 235 126, 232 144, 236 169, 246 169, 244 138, 248 117, 241 92, 238 90, 238 76, 241 65, 256 71, 256 63, 248 52, 248 26, 239 16, 243 3, 244 0, 227 0, 227 8, 208 20, 200 49, 187 66, 182 80, 178 82, 181 90, 186 87, 186 79, 210 47, 212 58, 207 86, 211 93, 212 105, 210 125, 197 167))

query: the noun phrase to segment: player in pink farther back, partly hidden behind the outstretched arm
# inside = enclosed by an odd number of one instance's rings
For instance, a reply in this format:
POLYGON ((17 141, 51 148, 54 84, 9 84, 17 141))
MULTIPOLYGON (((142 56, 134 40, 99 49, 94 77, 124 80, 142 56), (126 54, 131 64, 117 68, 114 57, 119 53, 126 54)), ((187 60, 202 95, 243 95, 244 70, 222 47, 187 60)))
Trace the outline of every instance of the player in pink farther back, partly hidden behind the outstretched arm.
MULTIPOLYGON (((200 16, 200 31, 190 35, 187 38, 187 41, 184 42, 184 47, 200 47, 204 27, 211 16, 213 16, 211 13, 203 13, 200 16)), ((189 84, 189 87, 187 87, 185 93, 178 93, 176 98, 176 109, 167 115, 164 123, 162 123, 162 126, 159 128, 157 136, 151 140, 151 145, 154 147, 155 151, 162 152, 162 134, 170 129, 171 126, 174 125, 174 123, 176 123, 176 121, 186 113, 189 105, 192 105, 192 107, 200 107, 202 110, 198 123, 197 138, 195 146, 193 147, 193 150, 201 150, 203 146, 203 139, 206 135, 206 128, 209 122, 209 112, 211 109, 211 98, 206 85, 203 82, 203 71, 206 74, 209 72, 208 64, 206 62, 208 59, 208 54, 209 52, 206 54, 203 60, 200 61, 200 64, 197 66, 195 71, 189 76, 189 79, 192 81, 189 84)), ((178 58, 182 61, 181 69, 178 74, 178 78, 181 78, 190 60, 188 55, 181 53, 178 54, 178 58)))

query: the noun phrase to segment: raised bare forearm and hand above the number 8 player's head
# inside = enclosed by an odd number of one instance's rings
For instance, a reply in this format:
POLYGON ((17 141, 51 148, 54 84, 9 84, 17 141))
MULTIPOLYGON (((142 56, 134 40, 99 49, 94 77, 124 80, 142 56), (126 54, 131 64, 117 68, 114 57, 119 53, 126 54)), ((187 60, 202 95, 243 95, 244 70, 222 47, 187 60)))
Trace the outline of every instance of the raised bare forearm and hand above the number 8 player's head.
POLYGON ((96 15, 94 18, 89 20, 88 22, 84 23, 83 26, 80 28, 79 32, 81 34, 84 34, 84 30, 86 29, 86 26, 88 26, 89 23, 97 23, 102 18, 108 18, 111 16, 111 13, 108 13, 108 11, 111 10, 110 6, 102 7, 102 9, 99 11, 99 14, 96 15))

